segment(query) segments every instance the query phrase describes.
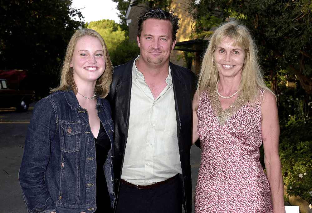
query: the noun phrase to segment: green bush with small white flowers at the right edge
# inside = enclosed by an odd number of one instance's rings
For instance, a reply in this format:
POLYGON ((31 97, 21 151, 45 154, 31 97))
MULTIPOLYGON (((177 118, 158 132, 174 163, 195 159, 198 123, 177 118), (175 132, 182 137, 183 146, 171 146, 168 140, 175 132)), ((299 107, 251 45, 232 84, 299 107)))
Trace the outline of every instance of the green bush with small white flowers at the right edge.
POLYGON ((280 160, 284 184, 289 195, 312 202, 312 122, 296 120, 281 126, 280 160))

